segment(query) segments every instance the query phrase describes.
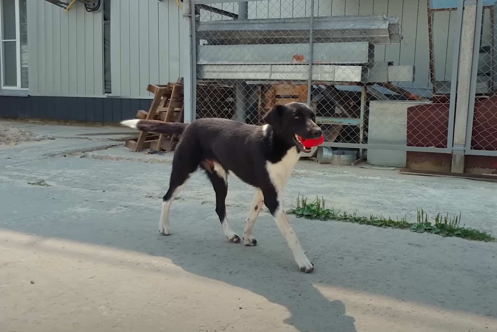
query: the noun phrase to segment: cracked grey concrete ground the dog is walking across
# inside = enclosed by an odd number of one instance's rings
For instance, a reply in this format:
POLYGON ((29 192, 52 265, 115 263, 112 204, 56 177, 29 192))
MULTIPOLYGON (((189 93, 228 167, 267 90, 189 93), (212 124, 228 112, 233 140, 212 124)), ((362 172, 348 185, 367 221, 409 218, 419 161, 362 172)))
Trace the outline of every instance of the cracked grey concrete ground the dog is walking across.
MULTIPOLYGON (((496 243, 290 216, 316 264, 304 274, 266 209, 256 247, 229 243, 201 173, 159 236, 172 154, 118 146, 132 132, 14 125, 57 139, 0 148, 2 332, 496 330, 496 243)), ((252 192, 229 177, 240 233, 252 192)), ((364 215, 461 212, 497 234, 496 183, 301 161, 285 206, 299 192, 364 215)))

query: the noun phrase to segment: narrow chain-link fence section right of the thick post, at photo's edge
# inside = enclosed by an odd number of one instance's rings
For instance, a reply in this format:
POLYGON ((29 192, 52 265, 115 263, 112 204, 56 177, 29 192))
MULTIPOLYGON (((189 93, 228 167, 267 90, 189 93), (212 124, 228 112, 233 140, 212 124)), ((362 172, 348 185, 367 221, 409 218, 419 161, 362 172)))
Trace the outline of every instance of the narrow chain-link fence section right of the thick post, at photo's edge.
POLYGON ((474 78, 475 103, 468 122, 468 154, 497 156, 496 13, 495 6, 484 6, 481 17, 477 17, 480 40, 475 52, 478 69, 474 78))

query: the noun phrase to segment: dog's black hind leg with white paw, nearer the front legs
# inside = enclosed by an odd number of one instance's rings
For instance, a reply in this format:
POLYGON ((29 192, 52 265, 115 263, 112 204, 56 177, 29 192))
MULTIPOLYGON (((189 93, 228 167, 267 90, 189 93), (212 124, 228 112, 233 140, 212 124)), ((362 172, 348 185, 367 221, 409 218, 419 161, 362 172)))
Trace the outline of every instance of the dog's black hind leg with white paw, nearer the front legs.
POLYGON ((207 171, 207 175, 212 182, 214 191, 216 192, 216 213, 221 222, 224 235, 230 242, 239 243, 240 237, 233 232, 226 218, 226 194, 228 193, 228 177, 224 168, 215 163, 212 171, 207 171))

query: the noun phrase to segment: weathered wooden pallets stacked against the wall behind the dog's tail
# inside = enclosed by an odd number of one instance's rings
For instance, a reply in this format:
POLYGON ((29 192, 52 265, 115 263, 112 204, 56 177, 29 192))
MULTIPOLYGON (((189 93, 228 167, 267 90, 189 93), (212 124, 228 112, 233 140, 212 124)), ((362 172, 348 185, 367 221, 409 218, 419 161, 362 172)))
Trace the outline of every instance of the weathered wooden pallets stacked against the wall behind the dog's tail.
MULTIPOLYGON (((136 114, 138 119, 162 120, 164 122, 183 121, 183 83, 178 79, 177 83, 149 84, 147 90, 154 93, 154 100, 149 111, 139 110, 136 114)), ((135 152, 144 149, 156 151, 174 151, 179 138, 177 135, 157 135, 140 131, 138 138, 130 139, 125 146, 135 152)))

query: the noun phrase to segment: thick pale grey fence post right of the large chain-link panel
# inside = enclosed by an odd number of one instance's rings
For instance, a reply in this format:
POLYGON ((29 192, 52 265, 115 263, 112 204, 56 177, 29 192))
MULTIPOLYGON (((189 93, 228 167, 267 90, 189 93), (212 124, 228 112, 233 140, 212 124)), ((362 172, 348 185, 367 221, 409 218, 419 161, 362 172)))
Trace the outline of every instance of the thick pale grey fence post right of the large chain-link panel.
POLYGON ((454 144, 452 148, 451 166, 451 171, 456 173, 464 172, 464 149, 466 144, 466 127, 468 123, 468 106, 470 102, 477 9, 477 0, 465 1, 461 30, 459 83, 457 86, 454 144))

